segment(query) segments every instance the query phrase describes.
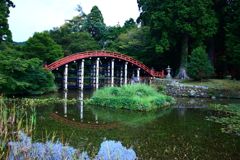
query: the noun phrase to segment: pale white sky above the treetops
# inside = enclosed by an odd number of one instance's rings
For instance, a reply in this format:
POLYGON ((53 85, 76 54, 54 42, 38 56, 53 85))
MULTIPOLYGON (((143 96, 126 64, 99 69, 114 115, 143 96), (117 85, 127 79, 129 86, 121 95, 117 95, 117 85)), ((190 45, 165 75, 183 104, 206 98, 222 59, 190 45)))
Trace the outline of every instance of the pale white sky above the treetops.
POLYGON ((102 12, 107 26, 115 26, 118 23, 123 26, 129 18, 136 21, 140 14, 137 0, 12 0, 12 2, 16 7, 10 8, 8 24, 15 42, 27 41, 34 32, 60 27, 65 20, 78 15, 75 10, 77 5, 81 5, 86 14, 96 5, 102 12))

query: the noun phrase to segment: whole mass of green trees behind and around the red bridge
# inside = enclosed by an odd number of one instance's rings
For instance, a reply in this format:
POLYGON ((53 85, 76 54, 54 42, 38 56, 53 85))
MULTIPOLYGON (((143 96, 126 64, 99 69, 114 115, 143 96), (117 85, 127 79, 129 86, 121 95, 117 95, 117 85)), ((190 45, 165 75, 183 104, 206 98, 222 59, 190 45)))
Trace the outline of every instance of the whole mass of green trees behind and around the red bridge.
MULTIPOLYGON (((175 78, 240 79, 240 0, 137 0, 140 15, 123 26, 106 26, 97 6, 62 26, 12 42, 11 0, 0 2, 0 93, 42 94, 56 90, 43 69, 65 56, 107 50, 131 56, 175 78), (197 68, 198 67, 198 68, 197 68), (200 68, 199 68, 200 67, 200 68), (196 72, 197 70, 197 72, 196 72)), ((127 5, 127 4, 126 4, 127 5)))

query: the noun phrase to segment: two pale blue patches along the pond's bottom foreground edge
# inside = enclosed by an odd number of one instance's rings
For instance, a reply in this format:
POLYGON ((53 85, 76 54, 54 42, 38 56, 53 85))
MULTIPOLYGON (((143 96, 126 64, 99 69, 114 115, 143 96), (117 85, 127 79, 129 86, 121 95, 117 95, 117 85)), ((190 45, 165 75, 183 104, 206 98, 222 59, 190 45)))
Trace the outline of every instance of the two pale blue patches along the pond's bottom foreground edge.
MULTIPOLYGON (((70 147, 67 143, 62 144, 58 139, 54 138, 45 143, 32 143, 31 138, 27 137, 23 132, 19 132, 18 142, 9 142, 11 150, 8 159, 84 159, 90 160, 87 152, 81 152, 79 149, 70 147)), ((133 149, 123 147, 121 142, 104 141, 94 160, 102 159, 137 159, 133 149)))

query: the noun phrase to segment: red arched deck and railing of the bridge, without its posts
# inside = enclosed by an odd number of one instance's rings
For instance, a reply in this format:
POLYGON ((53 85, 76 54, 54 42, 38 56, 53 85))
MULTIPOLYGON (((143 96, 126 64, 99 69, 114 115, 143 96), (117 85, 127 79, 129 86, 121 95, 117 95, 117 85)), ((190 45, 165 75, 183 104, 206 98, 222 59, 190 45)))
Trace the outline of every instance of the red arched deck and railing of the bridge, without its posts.
POLYGON ((72 54, 69 56, 66 56, 62 59, 59 59, 49 65, 45 65, 44 68, 45 69, 50 69, 50 70, 54 70, 62 65, 68 64, 70 62, 79 60, 79 59, 85 59, 85 58, 90 58, 90 57, 111 57, 114 59, 121 59, 124 60, 126 62, 132 63, 136 66, 138 66, 139 68, 141 68, 142 70, 144 70, 145 72, 147 72, 150 76, 152 77, 160 77, 160 78, 164 78, 164 71, 159 72, 159 71, 154 71, 151 70, 150 68, 148 68, 146 65, 144 65, 143 63, 141 63, 140 61, 121 54, 121 53, 116 53, 116 52, 111 52, 111 51, 85 51, 85 52, 79 52, 76 54, 72 54))

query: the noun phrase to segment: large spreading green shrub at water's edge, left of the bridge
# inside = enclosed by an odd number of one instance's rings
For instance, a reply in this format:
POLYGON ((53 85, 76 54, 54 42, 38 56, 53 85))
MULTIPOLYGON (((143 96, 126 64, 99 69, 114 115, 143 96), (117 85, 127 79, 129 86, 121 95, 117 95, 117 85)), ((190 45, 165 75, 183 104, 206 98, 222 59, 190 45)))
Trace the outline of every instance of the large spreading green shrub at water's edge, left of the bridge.
POLYGON ((4 94, 42 94, 56 90, 54 76, 38 58, 24 59, 22 52, 0 51, 0 90, 4 94))

